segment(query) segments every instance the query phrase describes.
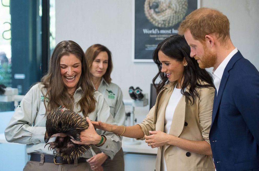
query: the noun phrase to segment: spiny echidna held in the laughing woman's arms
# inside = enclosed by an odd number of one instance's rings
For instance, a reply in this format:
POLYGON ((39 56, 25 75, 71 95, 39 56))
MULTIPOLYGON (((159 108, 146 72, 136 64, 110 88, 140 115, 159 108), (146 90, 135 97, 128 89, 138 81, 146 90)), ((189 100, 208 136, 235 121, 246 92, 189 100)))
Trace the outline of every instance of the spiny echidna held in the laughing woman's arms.
MULTIPOLYGON (((50 144, 49 150, 54 149, 55 156, 61 156, 70 163, 90 149, 90 145, 80 145, 73 143, 70 139, 80 141, 80 133, 88 128, 89 124, 85 118, 78 113, 59 107, 53 109, 46 115, 46 145, 50 144), (66 137, 56 137, 54 142, 49 142, 49 138, 56 133, 64 133, 66 137)), ((45 146, 46 146, 45 145, 45 146)))

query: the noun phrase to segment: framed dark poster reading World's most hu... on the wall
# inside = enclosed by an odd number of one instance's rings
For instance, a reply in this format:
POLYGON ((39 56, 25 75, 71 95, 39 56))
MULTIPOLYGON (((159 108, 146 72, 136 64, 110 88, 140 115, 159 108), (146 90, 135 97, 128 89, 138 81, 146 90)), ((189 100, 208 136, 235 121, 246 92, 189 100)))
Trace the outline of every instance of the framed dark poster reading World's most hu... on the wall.
POLYGON ((200 0, 134 0, 133 62, 153 62, 158 43, 178 33, 188 14, 200 8, 200 0))

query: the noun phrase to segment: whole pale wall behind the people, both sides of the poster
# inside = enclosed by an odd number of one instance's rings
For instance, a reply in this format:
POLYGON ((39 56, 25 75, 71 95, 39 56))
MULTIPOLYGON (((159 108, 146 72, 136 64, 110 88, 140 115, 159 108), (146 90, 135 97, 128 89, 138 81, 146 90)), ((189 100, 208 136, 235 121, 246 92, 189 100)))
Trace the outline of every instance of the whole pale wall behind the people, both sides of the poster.
MULTIPOLYGON (((128 88, 139 86, 150 92, 150 83, 158 69, 154 63, 132 62, 133 0, 56 0, 56 43, 73 40, 85 51, 92 44, 103 44, 113 54, 112 81, 118 84, 124 99, 128 88)), ((230 20, 233 44, 259 69, 258 0, 201 0, 201 7, 220 10, 230 20)), ((138 122, 149 107, 136 110, 138 122), (138 114, 139 113, 139 114, 138 114)))

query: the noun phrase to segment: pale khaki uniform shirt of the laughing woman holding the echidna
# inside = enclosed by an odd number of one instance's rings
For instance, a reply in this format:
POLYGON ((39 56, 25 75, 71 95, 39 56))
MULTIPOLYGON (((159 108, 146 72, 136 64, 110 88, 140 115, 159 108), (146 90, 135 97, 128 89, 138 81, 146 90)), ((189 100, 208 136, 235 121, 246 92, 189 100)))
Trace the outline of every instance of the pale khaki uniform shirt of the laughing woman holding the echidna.
MULTIPOLYGON (((15 142, 20 144, 27 144, 27 154, 43 153, 54 155, 53 151, 48 150, 48 146, 44 148, 44 136, 46 131, 46 109, 44 106, 44 95, 46 89, 43 84, 38 83, 34 85, 25 97, 22 99, 20 105, 16 108, 13 117, 11 118, 7 128, 5 129, 5 138, 8 142, 15 142)), ((74 93, 74 111, 83 116, 80 111, 80 106, 76 107, 76 103, 81 99, 81 88, 78 88, 74 93)), ((94 121, 101 120, 105 123, 116 125, 110 108, 104 97, 98 91, 95 91, 95 99, 97 101, 95 110, 89 114, 89 119, 94 121)), ((48 99, 46 98, 46 103, 48 99)), ((111 159, 121 148, 121 139, 114 133, 96 130, 99 135, 104 135, 107 140, 99 148, 104 154, 107 154, 111 159)), ((49 142, 55 141, 55 137, 50 138, 49 142)), ((86 152, 85 158, 92 157, 92 152, 86 152)))

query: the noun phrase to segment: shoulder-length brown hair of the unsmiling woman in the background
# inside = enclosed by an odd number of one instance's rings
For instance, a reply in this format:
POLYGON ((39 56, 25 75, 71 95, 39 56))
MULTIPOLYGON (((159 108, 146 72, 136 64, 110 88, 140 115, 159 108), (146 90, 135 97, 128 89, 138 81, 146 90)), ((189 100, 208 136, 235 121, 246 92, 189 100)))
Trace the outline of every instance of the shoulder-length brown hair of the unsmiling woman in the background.
POLYGON ((90 46, 86 51, 85 51, 85 57, 89 63, 89 68, 92 67, 92 63, 95 60, 95 58, 98 56, 100 52, 107 52, 108 54, 108 68, 103 75, 104 80, 110 84, 111 83, 111 71, 113 70, 113 62, 111 60, 111 51, 103 45, 100 44, 95 44, 90 46))

